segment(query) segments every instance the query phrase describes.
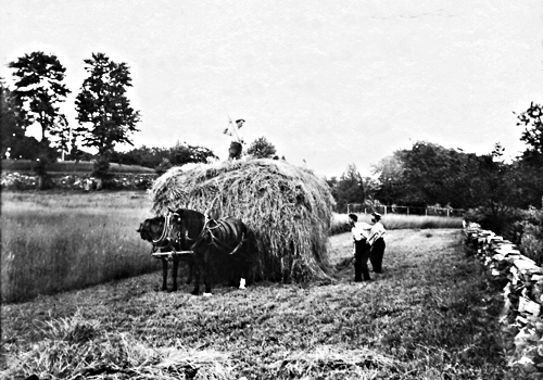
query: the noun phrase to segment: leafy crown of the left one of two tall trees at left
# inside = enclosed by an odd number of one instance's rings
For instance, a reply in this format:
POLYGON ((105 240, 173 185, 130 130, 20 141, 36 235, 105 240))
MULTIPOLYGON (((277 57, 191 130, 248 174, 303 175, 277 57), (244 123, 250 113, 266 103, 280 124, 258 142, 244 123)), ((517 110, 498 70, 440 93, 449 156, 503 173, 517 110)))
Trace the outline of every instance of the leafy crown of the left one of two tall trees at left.
POLYGON ((71 91, 63 84, 66 68, 56 55, 33 52, 8 66, 15 69, 13 75, 18 78, 13 96, 27 125, 38 123, 41 126, 42 141, 66 134, 66 117, 59 104, 71 91))

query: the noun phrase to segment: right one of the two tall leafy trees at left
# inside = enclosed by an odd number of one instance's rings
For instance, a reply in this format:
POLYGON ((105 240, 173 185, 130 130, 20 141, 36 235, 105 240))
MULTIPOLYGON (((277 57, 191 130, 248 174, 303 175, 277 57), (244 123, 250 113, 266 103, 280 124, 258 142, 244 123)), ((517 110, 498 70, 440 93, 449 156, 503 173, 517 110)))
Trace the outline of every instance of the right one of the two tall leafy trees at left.
POLYGON ((100 176, 106 174, 116 144, 132 144, 130 135, 138 131, 140 113, 126 97, 126 88, 131 87, 126 63, 115 63, 103 53, 92 53, 84 62, 89 76, 76 98, 80 127, 75 132, 81 136, 84 147, 98 149, 96 172, 100 176))

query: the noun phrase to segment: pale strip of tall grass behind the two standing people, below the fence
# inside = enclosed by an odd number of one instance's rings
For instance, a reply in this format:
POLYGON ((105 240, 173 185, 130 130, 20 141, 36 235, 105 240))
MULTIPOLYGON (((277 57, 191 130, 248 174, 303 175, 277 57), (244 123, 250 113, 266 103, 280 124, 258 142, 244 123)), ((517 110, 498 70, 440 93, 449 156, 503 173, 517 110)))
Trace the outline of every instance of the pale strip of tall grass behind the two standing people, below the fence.
MULTIPOLYGON (((371 215, 357 214, 358 221, 370 223, 371 215)), ((446 216, 421 216, 421 215, 401 215, 387 214, 381 223, 386 229, 427 229, 427 228, 462 228, 462 217, 446 216)), ((351 230, 349 226, 348 214, 332 215, 331 235, 346 232, 351 230)))

